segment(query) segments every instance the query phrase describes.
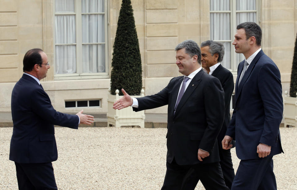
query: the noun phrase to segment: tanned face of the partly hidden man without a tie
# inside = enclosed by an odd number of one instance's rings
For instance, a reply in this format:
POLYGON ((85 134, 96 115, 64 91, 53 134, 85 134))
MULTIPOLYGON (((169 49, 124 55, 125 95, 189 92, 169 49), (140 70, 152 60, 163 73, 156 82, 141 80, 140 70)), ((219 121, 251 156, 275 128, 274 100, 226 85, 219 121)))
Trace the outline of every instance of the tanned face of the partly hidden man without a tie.
POLYGON ((209 52, 209 46, 201 47, 201 66, 209 71, 209 67, 217 64, 218 54, 213 54, 209 52))

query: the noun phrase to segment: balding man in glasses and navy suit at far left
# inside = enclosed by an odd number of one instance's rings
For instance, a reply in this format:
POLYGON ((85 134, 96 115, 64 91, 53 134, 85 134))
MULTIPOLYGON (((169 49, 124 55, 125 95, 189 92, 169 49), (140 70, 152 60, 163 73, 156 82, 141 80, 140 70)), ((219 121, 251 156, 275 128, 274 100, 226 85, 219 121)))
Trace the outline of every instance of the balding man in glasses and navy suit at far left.
POLYGON ((58 152, 54 125, 78 129, 79 123, 93 123, 93 116, 63 114, 54 110, 40 80, 50 68, 41 49, 29 50, 23 60, 22 78, 11 95, 13 133, 9 159, 15 162, 20 190, 56 189, 53 161, 58 152))

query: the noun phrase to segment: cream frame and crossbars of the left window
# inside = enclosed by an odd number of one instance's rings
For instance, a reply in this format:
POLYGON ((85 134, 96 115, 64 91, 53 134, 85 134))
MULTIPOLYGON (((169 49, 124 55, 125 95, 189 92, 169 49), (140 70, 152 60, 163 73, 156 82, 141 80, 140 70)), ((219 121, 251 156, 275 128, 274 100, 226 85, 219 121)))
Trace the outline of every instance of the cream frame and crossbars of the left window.
MULTIPOLYGON (((76 73, 69 74, 54 74, 54 80, 73 80, 73 79, 100 79, 100 78, 109 78, 109 66, 108 66, 108 7, 107 0, 104 1, 104 11, 98 13, 82 13, 81 11, 81 0, 74 0, 74 10, 75 12, 58 12, 56 13, 56 1, 54 0, 53 5, 53 13, 54 18, 56 15, 75 15, 75 41, 73 44, 56 44, 55 43, 55 23, 53 24, 53 41, 54 41, 54 60, 52 61, 54 66, 56 65, 56 45, 75 45, 76 50, 76 73), (82 43, 82 15, 90 15, 90 14, 101 14, 104 15, 104 30, 105 30, 105 42, 98 43, 82 43), (105 44, 105 72, 97 72, 97 73, 83 73, 83 65, 82 65, 82 46, 84 44, 105 44)), ((55 22, 55 19, 54 19, 55 22)))

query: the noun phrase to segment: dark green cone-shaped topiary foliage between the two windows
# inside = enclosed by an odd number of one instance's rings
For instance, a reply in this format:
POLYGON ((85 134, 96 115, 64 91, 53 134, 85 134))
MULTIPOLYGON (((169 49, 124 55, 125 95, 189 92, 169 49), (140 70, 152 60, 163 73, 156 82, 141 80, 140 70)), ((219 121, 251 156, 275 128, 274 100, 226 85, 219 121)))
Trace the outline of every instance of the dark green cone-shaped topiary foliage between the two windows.
POLYGON ((131 0, 122 1, 111 66, 110 93, 115 95, 118 89, 119 95, 123 95, 123 88, 129 95, 140 95, 141 57, 131 0))

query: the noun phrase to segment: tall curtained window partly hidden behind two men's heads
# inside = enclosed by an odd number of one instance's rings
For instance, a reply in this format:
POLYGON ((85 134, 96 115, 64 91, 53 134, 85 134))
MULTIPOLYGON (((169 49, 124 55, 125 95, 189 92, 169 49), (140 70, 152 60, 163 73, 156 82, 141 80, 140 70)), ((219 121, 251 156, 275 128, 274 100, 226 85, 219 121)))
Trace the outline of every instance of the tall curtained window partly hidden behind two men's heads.
POLYGON ((232 42, 236 26, 243 22, 257 22, 256 0, 210 0, 210 39, 225 47, 223 67, 236 71, 244 59, 235 53, 232 42))

